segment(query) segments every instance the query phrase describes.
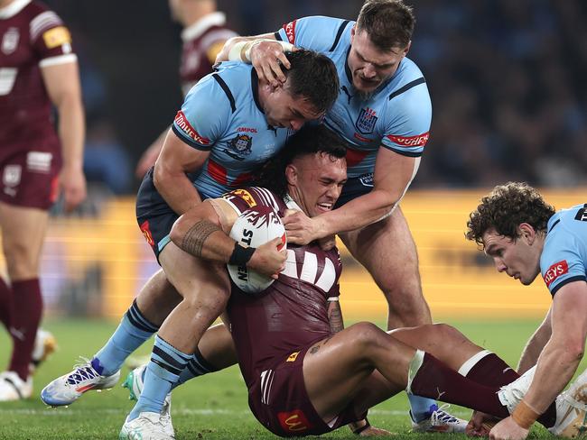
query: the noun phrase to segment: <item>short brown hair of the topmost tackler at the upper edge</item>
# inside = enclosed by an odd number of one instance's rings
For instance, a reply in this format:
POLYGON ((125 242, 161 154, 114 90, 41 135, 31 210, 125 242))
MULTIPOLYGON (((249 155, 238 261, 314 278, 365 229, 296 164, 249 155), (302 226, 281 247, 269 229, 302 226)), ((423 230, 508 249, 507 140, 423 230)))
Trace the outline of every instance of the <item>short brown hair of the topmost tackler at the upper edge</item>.
POLYGON ((367 0, 359 12, 357 32, 367 32, 377 49, 404 49, 414 32, 415 15, 401 0, 367 0))

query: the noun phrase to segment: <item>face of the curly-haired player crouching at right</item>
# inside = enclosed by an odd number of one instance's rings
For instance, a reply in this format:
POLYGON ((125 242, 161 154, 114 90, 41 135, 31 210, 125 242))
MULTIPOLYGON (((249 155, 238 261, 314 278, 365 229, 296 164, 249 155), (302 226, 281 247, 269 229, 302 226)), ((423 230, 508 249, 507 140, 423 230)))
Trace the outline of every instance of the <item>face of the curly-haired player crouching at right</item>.
POLYGON ((483 234, 483 246, 499 272, 506 272, 525 286, 540 273, 541 250, 529 244, 524 235, 512 240, 489 229, 483 234))

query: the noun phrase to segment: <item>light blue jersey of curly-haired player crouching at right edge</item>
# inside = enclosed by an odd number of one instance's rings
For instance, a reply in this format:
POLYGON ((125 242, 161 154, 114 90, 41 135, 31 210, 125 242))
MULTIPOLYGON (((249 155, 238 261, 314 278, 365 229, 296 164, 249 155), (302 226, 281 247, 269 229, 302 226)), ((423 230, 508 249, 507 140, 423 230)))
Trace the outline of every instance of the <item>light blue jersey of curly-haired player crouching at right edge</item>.
POLYGON ((548 220, 540 270, 550 293, 587 280, 587 204, 563 209, 548 220))

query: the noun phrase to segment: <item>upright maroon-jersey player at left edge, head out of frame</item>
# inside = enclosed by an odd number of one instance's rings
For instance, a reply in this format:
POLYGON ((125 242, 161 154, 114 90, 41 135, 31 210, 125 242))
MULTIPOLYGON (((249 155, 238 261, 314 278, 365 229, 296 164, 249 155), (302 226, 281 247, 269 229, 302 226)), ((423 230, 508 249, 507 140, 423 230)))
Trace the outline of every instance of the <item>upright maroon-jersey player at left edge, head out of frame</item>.
POLYGON ((60 190, 67 210, 86 197, 76 55, 60 17, 36 1, 0 0, 0 121, 0 228, 10 278, 0 280, 0 321, 14 342, 0 373, 3 401, 33 391, 29 364, 42 316, 39 258, 48 209, 60 190))

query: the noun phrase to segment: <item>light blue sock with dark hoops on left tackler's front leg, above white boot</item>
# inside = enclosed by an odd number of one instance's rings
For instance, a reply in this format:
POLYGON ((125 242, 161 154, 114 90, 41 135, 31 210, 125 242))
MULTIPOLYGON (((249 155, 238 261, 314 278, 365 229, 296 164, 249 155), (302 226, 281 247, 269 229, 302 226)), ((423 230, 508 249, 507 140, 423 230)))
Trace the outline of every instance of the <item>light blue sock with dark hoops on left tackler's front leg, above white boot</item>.
POLYGON ((180 373, 190 359, 191 354, 182 353, 161 337, 155 336, 151 361, 144 374, 143 391, 128 415, 128 420, 135 419, 142 412, 159 414, 165 396, 172 390, 172 384, 180 378, 180 373))

